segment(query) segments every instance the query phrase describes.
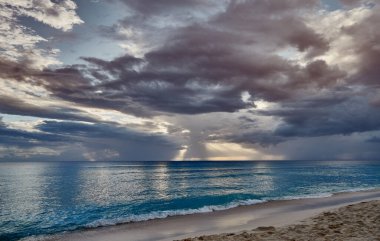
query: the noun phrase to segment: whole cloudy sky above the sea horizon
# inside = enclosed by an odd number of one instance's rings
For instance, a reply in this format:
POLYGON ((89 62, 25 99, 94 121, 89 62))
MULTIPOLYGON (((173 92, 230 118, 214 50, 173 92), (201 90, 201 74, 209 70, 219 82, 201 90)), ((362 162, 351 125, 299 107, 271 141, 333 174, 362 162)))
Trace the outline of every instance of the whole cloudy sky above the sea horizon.
POLYGON ((380 159, 362 0, 0 0, 0 161, 380 159))

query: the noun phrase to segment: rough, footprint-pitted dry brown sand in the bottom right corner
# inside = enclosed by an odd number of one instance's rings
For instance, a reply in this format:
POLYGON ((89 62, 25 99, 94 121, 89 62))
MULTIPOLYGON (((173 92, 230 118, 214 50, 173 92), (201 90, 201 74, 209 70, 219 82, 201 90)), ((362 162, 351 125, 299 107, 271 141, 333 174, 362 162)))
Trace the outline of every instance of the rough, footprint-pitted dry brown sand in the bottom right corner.
POLYGON ((299 224, 187 238, 182 241, 380 240, 380 201, 361 202, 323 212, 299 224))

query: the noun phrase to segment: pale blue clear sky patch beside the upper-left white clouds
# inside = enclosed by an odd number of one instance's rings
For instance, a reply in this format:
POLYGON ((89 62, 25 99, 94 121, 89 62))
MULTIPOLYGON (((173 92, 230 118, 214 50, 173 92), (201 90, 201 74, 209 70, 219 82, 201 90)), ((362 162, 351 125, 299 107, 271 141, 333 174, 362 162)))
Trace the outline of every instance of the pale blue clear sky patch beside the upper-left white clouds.
POLYGON ((31 17, 20 17, 20 23, 48 39, 41 44, 59 49, 58 60, 67 65, 80 63, 82 56, 111 60, 122 55, 125 51, 114 40, 99 35, 99 27, 116 23, 125 15, 126 7, 118 1, 110 4, 108 1, 77 0, 76 4, 76 12, 84 23, 71 31, 62 32, 31 17))

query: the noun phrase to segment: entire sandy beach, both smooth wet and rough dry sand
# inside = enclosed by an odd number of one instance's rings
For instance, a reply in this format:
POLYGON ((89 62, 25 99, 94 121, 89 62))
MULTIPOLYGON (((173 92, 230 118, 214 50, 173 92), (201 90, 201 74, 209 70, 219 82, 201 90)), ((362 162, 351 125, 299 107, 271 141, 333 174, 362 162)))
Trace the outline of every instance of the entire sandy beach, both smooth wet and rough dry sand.
POLYGON ((380 240, 380 201, 375 200, 380 200, 380 190, 270 201, 74 231, 43 240, 380 240))

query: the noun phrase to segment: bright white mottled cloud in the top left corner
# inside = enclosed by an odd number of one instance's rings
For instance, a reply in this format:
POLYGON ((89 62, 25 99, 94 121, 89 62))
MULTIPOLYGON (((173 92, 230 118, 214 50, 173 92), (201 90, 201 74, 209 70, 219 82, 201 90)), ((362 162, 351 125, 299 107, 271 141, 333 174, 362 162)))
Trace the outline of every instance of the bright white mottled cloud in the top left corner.
POLYGON ((0 51, 10 61, 24 63, 42 69, 60 64, 58 49, 43 49, 39 44, 47 39, 20 24, 18 18, 27 16, 53 28, 68 31, 75 24, 83 23, 75 12, 71 0, 53 3, 50 0, 0 0, 0 51))

